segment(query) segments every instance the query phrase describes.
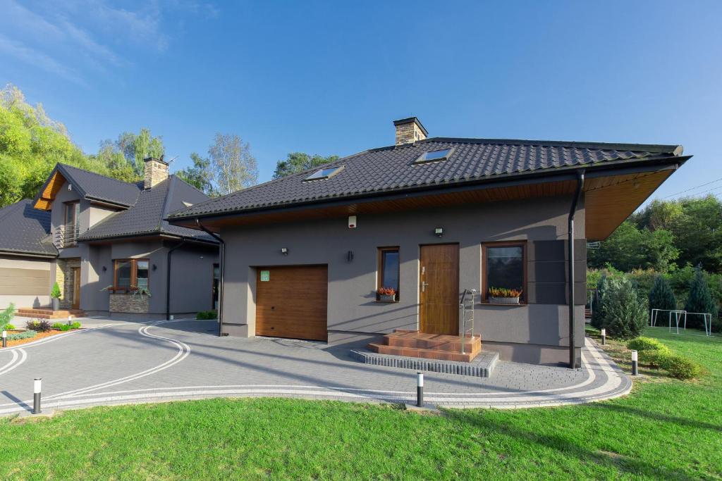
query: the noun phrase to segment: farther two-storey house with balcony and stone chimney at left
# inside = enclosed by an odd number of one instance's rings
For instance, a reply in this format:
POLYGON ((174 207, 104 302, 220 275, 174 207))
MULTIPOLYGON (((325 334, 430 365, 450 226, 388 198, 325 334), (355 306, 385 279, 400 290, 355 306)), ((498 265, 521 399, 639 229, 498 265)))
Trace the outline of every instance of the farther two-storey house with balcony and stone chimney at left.
POLYGON ((62 309, 150 317, 212 309, 217 240, 164 220, 205 200, 162 159, 146 159, 137 183, 57 164, 34 200, 0 211, 0 306, 12 302, 21 315, 47 307, 57 282, 62 309))

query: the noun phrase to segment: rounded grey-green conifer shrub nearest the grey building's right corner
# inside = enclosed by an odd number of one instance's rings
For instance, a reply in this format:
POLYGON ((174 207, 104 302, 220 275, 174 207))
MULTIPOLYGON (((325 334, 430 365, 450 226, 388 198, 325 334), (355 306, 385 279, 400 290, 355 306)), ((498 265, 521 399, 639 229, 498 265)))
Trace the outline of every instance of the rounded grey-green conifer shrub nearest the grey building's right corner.
POLYGON ((647 325, 647 305, 627 278, 612 279, 601 300, 601 326, 609 337, 638 337, 647 325))

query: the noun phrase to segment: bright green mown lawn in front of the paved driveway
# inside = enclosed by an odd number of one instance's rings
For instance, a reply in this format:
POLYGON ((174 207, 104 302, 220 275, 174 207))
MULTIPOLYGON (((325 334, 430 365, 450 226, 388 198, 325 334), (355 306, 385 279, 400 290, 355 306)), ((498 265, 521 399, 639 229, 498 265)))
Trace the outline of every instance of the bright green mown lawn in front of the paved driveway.
MULTIPOLYGON (((302 400, 98 407, 0 420, 0 479, 721 479, 722 339, 648 330, 710 372, 534 410, 302 400)), ((613 356, 625 356, 619 344, 613 356)))

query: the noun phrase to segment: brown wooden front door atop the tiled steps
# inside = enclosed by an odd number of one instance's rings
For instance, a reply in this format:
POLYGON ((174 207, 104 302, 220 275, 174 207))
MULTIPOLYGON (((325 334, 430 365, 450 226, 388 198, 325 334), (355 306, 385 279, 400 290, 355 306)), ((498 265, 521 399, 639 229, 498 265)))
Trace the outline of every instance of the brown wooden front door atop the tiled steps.
POLYGON ((421 246, 421 332, 458 335, 458 244, 421 246))

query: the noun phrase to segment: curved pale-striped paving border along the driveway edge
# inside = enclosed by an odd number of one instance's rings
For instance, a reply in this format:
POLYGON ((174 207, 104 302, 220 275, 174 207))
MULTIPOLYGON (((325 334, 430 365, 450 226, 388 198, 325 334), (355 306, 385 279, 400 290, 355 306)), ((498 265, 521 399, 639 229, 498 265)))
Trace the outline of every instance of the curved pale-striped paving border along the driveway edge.
MULTIPOLYGON (((165 402, 170 400, 206 399, 212 397, 298 397, 305 399, 345 400, 352 402, 414 402, 416 393, 388 391, 383 389, 349 389, 348 387, 294 385, 294 384, 229 384, 208 386, 162 387, 150 389, 125 389, 118 391, 98 390, 123 384, 142 376, 155 374, 185 359, 190 348, 180 340, 149 333, 151 327, 164 324, 160 321, 140 327, 138 332, 175 345, 179 350, 165 363, 140 373, 102 384, 76 389, 72 392, 55 394, 45 398, 43 407, 74 408, 92 405, 118 405, 138 402, 165 402)), ((632 389, 631 379, 590 339, 582 350, 586 377, 577 384, 553 389, 538 389, 518 392, 427 392, 427 402, 445 407, 492 407, 525 408, 559 405, 576 405, 586 402, 607 400, 628 394, 632 389)), ((29 404, 30 401, 27 401, 29 404)), ((5 405, 7 406, 7 405, 5 405)), ((0 409, 0 415, 22 412, 24 407, 14 405, 0 409)))

